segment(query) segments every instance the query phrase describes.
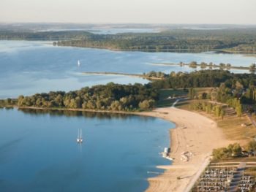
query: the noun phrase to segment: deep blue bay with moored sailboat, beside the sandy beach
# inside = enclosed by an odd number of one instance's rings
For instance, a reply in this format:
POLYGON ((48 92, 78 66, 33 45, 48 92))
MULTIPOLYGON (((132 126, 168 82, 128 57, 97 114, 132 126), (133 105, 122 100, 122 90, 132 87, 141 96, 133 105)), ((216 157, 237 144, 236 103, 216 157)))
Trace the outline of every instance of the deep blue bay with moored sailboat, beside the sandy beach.
POLYGON ((170 164, 173 124, 158 118, 0 109, 0 122, 0 191, 143 191, 170 164))

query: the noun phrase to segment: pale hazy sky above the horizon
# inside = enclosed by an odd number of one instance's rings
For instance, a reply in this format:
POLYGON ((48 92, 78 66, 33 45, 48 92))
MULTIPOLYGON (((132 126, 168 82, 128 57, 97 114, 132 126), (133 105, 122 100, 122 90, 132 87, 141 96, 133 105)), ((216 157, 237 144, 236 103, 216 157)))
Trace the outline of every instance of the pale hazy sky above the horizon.
POLYGON ((256 24, 256 0, 0 0, 0 22, 256 24))

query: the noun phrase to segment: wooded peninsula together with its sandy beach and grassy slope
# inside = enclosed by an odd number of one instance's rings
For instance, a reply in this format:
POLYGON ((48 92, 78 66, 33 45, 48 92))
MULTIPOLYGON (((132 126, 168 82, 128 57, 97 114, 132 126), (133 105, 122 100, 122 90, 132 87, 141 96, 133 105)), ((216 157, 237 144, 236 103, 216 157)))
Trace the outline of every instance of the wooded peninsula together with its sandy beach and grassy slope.
MULTIPOLYGON (((149 72, 149 74, 157 74, 149 72)), ((96 85, 78 91, 51 91, 0 105, 34 110, 73 110, 148 115, 170 120, 170 157, 164 174, 149 178, 147 191, 189 191, 211 161, 212 150, 255 137, 255 74, 202 70, 165 74, 146 85, 96 85), (174 105, 178 109, 176 108, 174 105), (168 106, 168 107, 167 107, 168 106), (170 107, 171 106, 171 107, 170 107), (241 124, 248 128, 241 128, 241 124)), ((222 158, 231 158, 226 154, 222 158)))

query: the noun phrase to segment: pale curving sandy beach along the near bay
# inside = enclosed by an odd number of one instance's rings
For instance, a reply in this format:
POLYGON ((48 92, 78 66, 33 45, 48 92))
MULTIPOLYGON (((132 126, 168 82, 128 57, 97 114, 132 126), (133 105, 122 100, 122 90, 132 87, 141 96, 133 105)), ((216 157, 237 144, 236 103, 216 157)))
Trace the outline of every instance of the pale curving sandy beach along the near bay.
POLYGON ((148 179, 149 187, 146 192, 189 191, 200 172, 207 166, 211 151, 233 142, 225 139, 214 120, 195 112, 166 107, 140 115, 159 117, 176 123, 176 128, 171 129, 170 157, 174 158, 173 164, 159 166, 166 170, 164 174, 148 179), (184 126, 187 128, 181 128, 184 126), (187 162, 181 161, 181 153, 184 151, 193 153, 187 162), (177 180, 177 177, 181 179, 177 180))

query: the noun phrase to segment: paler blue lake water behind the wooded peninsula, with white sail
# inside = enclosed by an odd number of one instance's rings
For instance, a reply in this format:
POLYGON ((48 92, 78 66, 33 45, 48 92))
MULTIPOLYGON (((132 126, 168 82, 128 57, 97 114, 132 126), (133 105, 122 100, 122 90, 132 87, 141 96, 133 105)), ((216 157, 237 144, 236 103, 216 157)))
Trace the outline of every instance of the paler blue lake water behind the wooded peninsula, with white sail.
MULTIPOLYGON (((227 53, 146 53, 81 47, 54 47, 51 42, 0 41, 0 98, 48 91, 71 91, 85 86, 117 83, 146 83, 137 77, 88 75, 81 72, 191 72, 188 66, 152 63, 205 61, 249 66, 256 58, 227 53), (80 67, 78 67, 78 60, 80 67)), ((233 72, 246 72, 232 70, 233 72)))

